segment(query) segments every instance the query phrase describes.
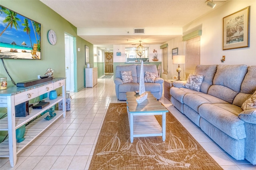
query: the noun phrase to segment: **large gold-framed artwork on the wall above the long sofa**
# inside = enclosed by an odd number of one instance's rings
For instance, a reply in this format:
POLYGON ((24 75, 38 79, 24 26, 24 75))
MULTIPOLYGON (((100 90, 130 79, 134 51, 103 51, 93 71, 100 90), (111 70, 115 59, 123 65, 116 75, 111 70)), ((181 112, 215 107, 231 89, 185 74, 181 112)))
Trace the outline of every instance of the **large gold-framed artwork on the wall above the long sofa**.
POLYGON ((223 18, 223 50, 249 47, 250 6, 223 18))

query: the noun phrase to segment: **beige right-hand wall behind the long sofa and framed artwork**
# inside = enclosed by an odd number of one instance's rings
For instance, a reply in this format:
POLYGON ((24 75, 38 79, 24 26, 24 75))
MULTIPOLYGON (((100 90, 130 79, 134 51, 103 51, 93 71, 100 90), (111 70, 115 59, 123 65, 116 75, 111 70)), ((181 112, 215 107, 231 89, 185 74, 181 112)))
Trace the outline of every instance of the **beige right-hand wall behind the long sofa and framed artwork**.
MULTIPOLYGON (((256 0, 228 1, 222 6, 217 6, 217 8, 214 8, 212 12, 205 16, 184 26, 183 33, 187 34, 200 28, 202 29, 200 64, 256 65, 256 0), (250 47, 222 50, 223 18, 248 6, 250 6, 250 47), (224 61, 224 63, 220 61, 222 55, 226 56, 226 61, 224 61)), ((166 43, 168 43, 169 55, 168 75, 163 75, 163 78, 170 79, 173 75, 178 75, 176 72, 177 66, 172 65, 172 59, 170 57, 172 56, 172 48, 178 47, 179 53, 183 54, 180 52, 180 49, 184 50, 184 43, 182 42, 182 37, 175 38, 166 43)), ((184 69, 182 69, 182 73, 184 73, 184 69)))

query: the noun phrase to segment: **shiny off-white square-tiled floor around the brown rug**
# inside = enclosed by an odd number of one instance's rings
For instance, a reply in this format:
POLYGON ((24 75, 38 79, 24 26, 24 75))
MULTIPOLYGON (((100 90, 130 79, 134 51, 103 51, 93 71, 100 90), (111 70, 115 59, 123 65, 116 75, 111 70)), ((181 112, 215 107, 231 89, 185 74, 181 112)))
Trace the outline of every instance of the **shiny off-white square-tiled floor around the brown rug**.
MULTIPOLYGON (((109 103, 118 101, 113 77, 98 79, 93 88, 70 93, 71 111, 58 119, 22 152, 16 166, 8 158, 0 158, 0 169, 54 170, 88 169, 109 103)), ((213 142, 199 127, 180 113, 165 97, 160 102, 182 123, 224 170, 256 170, 246 160, 235 160, 213 142)))

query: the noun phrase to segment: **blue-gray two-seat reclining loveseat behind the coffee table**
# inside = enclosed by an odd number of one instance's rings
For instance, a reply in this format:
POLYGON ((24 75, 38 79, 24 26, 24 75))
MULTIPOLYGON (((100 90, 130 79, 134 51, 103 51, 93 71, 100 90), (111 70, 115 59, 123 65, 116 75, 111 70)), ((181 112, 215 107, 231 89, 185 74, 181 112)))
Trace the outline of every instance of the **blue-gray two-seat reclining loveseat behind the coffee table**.
MULTIPOLYGON (((117 65, 116 66, 116 79, 114 80, 116 85, 116 97, 119 100, 126 100, 126 92, 137 91, 140 83, 140 64, 132 65, 117 65), (133 83, 123 83, 121 71, 132 71, 133 83)), ((160 99, 163 93, 164 79, 158 77, 158 71, 156 65, 143 65, 144 75, 145 72, 156 73, 156 79, 154 83, 145 83, 145 90, 150 91, 156 99, 160 99)), ((135 93, 134 93, 135 94, 135 93)))

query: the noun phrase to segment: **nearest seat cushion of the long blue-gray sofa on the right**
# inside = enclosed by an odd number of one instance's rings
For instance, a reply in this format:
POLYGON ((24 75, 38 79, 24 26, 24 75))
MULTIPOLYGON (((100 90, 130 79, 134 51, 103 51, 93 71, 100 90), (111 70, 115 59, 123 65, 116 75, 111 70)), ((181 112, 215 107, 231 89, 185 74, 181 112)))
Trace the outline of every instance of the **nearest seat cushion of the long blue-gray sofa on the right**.
POLYGON ((199 109, 199 115, 210 122, 212 125, 226 133, 234 139, 243 139, 246 137, 244 121, 238 118, 242 109, 231 104, 202 104, 199 109))

